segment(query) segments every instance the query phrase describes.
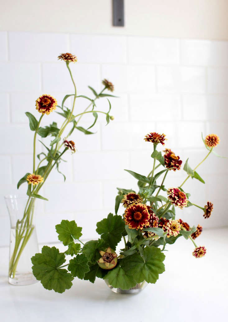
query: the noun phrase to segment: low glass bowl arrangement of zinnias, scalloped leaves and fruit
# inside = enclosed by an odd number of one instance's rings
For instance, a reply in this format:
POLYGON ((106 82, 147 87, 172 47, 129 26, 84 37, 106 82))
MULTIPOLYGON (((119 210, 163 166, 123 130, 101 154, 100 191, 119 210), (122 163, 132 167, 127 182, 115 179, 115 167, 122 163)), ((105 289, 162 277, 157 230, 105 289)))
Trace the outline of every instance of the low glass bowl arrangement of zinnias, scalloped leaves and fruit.
POLYGON ((145 141, 153 144, 153 167, 145 176, 126 170, 138 180, 139 191, 117 188, 115 214, 109 213, 97 223, 98 240, 81 242, 81 227, 75 221, 62 220, 55 226, 59 240, 67 247, 60 252, 56 247, 43 246, 41 253, 32 258, 33 274, 40 280, 45 289, 62 293, 72 286, 75 277, 90 280, 96 277, 104 279, 110 289, 118 293, 138 293, 148 283, 156 283, 159 274, 165 271, 163 263, 166 244, 173 244, 179 237, 191 240, 194 244, 193 256, 202 258, 206 254, 205 246, 197 246, 195 239, 201 234, 202 227, 190 227, 182 219, 176 219, 175 208, 184 210, 196 206, 202 209, 205 219, 211 216, 213 204, 207 202, 204 207, 190 202, 190 194, 182 186, 193 178, 205 183, 195 171, 211 154, 219 143, 219 137, 212 134, 203 139, 208 150, 195 169, 185 162, 183 170, 186 179, 178 187, 165 187, 165 179, 170 171, 180 170, 182 161, 170 149, 164 155, 157 150, 158 145, 165 144, 165 135, 152 132, 146 135, 145 141), (158 171, 158 167, 163 167, 158 171), (161 184, 157 179, 163 176, 161 184), (160 195, 160 191, 166 194, 160 195), (125 209, 123 216, 118 215, 119 206, 125 209), (75 242, 78 241, 78 242, 75 242), (124 248, 117 249, 122 241, 124 248), (73 257, 66 262, 66 255, 73 257))

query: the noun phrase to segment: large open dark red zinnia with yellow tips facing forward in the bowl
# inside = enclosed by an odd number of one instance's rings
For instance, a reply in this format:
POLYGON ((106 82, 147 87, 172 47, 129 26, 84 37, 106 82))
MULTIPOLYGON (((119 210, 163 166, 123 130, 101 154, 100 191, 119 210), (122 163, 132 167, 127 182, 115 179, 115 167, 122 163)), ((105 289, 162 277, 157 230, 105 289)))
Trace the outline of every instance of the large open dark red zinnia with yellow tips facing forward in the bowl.
POLYGON ((147 226, 150 214, 145 204, 133 204, 124 213, 124 220, 130 229, 143 229, 147 226))

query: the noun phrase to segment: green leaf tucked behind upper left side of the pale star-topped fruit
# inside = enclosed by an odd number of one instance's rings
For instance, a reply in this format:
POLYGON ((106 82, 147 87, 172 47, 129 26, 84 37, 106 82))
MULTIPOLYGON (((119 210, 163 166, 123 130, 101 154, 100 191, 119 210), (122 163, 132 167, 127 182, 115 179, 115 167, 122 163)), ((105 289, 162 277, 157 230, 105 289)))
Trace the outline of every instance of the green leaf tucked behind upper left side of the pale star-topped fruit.
POLYGON ((106 248, 108 248, 108 244, 103 241, 103 239, 99 240, 91 240, 89 242, 86 242, 85 245, 82 248, 82 252, 86 255, 88 260, 91 263, 96 263, 97 260, 101 257, 99 251, 103 251, 106 248))

